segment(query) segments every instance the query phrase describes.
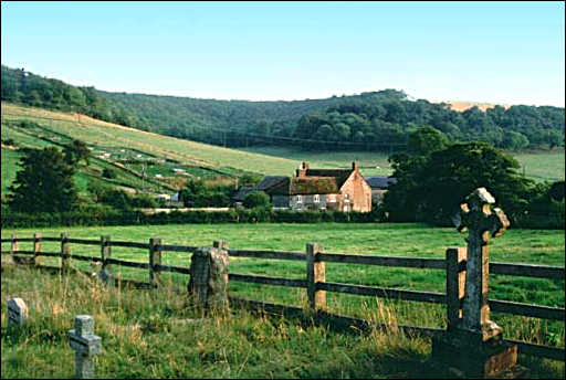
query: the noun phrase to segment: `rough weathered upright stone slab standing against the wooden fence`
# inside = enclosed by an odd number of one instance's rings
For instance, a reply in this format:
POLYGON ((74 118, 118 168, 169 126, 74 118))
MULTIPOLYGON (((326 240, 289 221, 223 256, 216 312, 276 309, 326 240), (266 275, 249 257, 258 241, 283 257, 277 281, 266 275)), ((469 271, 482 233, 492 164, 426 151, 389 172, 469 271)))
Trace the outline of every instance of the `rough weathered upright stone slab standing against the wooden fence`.
POLYGON ((198 249, 190 262, 189 294, 206 310, 228 309, 228 252, 221 242, 198 249))

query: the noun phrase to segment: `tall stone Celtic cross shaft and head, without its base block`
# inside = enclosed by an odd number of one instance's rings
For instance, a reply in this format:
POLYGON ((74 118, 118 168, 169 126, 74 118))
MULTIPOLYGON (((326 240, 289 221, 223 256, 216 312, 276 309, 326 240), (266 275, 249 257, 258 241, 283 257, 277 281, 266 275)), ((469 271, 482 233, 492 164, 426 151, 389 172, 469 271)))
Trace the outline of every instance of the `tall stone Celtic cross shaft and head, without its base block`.
POLYGON ((458 231, 469 232, 463 318, 458 329, 471 332, 481 341, 502 332, 501 327, 490 319, 488 244, 490 236, 501 236, 510 223, 501 209, 491 210, 493 203, 495 199, 485 188, 475 189, 465 198, 461 204, 462 211, 453 220, 458 231))

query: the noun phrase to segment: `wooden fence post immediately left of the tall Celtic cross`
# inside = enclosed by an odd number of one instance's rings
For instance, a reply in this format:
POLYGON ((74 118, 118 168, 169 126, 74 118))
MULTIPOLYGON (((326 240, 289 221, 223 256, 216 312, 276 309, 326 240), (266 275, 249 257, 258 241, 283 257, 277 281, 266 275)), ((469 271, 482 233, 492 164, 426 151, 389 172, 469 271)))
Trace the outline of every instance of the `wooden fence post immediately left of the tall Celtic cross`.
POLYGON ((465 247, 449 247, 447 250, 447 315, 448 330, 452 330, 462 318, 461 299, 465 292, 465 270, 460 270, 465 261, 465 247))

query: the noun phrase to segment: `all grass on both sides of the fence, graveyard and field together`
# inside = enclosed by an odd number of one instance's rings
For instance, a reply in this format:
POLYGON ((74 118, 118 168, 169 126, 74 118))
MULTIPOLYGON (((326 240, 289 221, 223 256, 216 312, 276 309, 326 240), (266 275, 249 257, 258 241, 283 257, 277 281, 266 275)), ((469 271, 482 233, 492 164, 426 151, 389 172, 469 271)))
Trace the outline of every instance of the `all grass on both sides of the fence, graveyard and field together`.
MULTIPOLYGON (((36 231, 19 230, 20 236, 36 231)), ((316 241, 325 252, 419 257, 443 257, 448 246, 463 245, 463 234, 452 229, 422 224, 214 224, 147 225, 113 228, 43 229, 44 236, 69 231, 72 238, 147 242, 159 236, 168 244, 211 245, 224 239, 233 249, 304 251, 316 241)), ((15 231, 2 230, 2 239, 15 231)), ((28 250, 31 243, 21 243, 28 250)), ((2 250, 9 245, 2 244, 2 250)), ((57 243, 43 243, 44 252, 57 252, 57 243)), ((72 245, 76 254, 98 255, 99 249, 72 245)), ((564 231, 510 230, 495 240, 491 257, 499 262, 564 265, 564 231)), ((147 262, 145 250, 113 247, 113 257, 147 262)), ((165 264, 188 266, 188 254, 165 252, 165 264)), ((57 260, 43 257, 43 264, 57 260)), ((75 262, 83 270, 88 264, 75 262)), ((293 320, 262 318, 244 310, 232 317, 211 319, 205 325, 179 325, 175 320, 198 318, 184 295, 187 276, 164 273, 160 291, 107 292, 94 277, 36 274, 30 270, 2 268, 2 378, 70 377, 72 352, 65 331, 76 314, 92 314, 96 332, 103 337, 104 353, 98 358, 99 377, 221 377, 221 378, 428 378, 421 360, 430 355, 430 341, 407 338, 395 331, 369 336, 344 335, 323 327, 301 327, 293 320), (22 281, 25 278, 24 281, 22 281), (4 304, 8 295, 33 299, 31 313, 38 316, 22 334, 6 334, 4 304), (49 294, 49 297, 46 296, 49 294), (31 359, 29 359, 31 358, 31 359), (33 366, 22 366, 32 360, 33 366)), ((114 266, 123 278, 147 281, 147 273, 114 266)), ((232 257, 230 273, 304 278, 305 263, 232 257)), ((443 271, 380 268, 363 265, 326 264, 328 282, 444 291, 443 271)), ((230 283, 230 293, 253 299, 305 306, 303 289, 230 283)), ((564 307, 564 281, 492 276, 490 296, 564 307)), ((441 305, 395 302, 327 293, 331 312, 365 319, 446 327, 441 305)), ((564 324, 493 313, 505 337, 564 347, 564 324)), ((521 357, 534 371, 533 378, 564 378, 564 362, 521 357)))

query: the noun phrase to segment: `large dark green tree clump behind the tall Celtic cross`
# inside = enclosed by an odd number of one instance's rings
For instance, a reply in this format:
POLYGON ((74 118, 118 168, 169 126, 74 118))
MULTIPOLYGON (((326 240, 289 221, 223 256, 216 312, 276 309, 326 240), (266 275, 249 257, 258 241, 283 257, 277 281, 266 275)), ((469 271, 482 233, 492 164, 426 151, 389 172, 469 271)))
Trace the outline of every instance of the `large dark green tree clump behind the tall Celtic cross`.
POLYGON ((564 180, 536 183, 518 172, 517 160, 490 144, 450 142, 424 127, 389 161, 397 181, 379 210, 388 221, 451 225, 465 197, 484 187, 512 225, 564 228, 564 180))

